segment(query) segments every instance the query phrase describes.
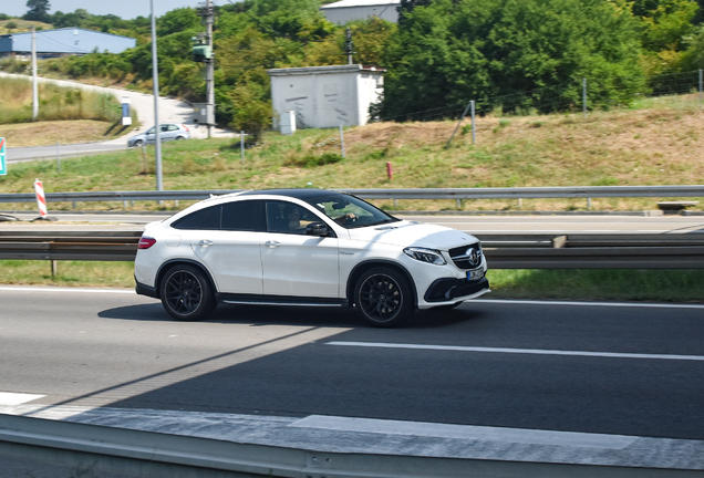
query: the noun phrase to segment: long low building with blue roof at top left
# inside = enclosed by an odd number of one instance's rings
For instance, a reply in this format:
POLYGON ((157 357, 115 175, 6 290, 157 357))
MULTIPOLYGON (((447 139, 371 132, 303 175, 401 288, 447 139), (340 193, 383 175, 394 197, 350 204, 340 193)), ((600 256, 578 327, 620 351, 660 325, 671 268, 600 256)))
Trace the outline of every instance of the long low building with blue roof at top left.
MULTIPOLYGON (((134 48, 133 38, 103 33, 80 28, 40 30, 37 37, 37 58, 83 55, 86 53, 122 53, 134 48)), ((32 53, 32 33, 12 33, 0 35, 0 58, 25 56, 32 53)))

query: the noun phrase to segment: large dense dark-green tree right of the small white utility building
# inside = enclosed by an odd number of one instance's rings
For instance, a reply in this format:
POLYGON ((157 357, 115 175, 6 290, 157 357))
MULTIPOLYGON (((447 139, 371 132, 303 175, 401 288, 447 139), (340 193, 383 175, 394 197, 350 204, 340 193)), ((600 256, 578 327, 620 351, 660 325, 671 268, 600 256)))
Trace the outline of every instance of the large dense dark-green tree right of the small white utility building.
MULTIPOLYGON (((436 0, 405 13, 384 55, 383 117, 552 87, 580 104, 582 77, 601 104, 628 101, 642 76, 639 24, 624 0, 436 0), (593 82, 592 82, 593 83, 593 82)), ((526 96, 536 107, 540 93, 526 96)), ((547 102, 542 102, 547 104, 547 102)), ((543 106, 539 106, 542 108, 543 106)))

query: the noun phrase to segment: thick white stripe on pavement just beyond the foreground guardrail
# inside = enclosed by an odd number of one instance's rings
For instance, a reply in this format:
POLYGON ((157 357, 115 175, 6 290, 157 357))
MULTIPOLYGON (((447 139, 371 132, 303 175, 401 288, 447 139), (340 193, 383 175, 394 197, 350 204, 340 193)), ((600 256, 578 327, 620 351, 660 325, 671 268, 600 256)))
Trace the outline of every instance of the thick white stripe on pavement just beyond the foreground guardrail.
POLYGON ((300 428, 322 428, 339 432, 617 449, 625 448, 638 439, 638 437, 625 435, 601 435, 526 428, 499 428, 474 425, 451 425, 428 422, 401 422, 321 415, 310 415, 292 423, 289 426, 300 428))

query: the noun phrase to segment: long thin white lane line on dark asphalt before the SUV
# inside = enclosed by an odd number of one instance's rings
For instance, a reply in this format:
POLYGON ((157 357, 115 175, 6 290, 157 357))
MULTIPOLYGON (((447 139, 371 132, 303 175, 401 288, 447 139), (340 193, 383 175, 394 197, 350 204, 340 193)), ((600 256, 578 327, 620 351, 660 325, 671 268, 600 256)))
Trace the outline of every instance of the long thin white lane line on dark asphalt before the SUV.
POLYGON ((503 347, 475 347, 460 345, 423 345, 423 344, 398 344, 377 342, 325 342, 325 345, 359 346, 375 349, 407 349, 407 350, 433 350, 453 352, 488 352, 488 353, 510 353, 528 355, 568 355, 568 356, 590 356, 609 358, 651 358, 651 360, 679 360, 704 362, 703 355, 671 355, 671 354, 638 354, 622 352, 584 352, 584 351, 557 351, 539 349, 503 349, 503 347))

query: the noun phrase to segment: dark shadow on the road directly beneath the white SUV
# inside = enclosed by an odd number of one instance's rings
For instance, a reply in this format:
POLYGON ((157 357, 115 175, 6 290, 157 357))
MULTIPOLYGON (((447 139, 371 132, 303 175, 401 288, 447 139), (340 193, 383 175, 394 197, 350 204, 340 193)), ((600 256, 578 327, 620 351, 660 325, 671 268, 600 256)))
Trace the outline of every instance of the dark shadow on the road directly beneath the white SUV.
MULTIPOLYGON (((476 311, 455 309, 449 311, 420 311, 405 325, 406 329, 454 325, 477 316, 476 311)), ((106 309, 97 313, 102 319, 120 319, 148 322, 174 322, 161 303, 135 304, 106 309)), ((204 322, 249 323, 253 325, 304 325, 367 328, 353 309, 298 308, 275 305, 220 304, 204 322)))

